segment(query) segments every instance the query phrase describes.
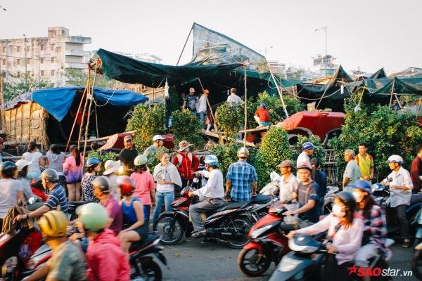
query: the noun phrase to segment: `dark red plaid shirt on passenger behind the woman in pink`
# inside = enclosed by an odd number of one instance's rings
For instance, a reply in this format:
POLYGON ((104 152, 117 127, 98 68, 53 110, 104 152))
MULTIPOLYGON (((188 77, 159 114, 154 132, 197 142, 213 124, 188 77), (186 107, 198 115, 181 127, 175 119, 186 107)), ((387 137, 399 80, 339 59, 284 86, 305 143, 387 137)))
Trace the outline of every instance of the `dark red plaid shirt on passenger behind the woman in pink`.
MULTIPOLYGON (((362 211, 361 211, 362 214, 362 211)), ((373 205, 369 217, 364 217, 364 242, 376 244, 382 251, 385 249, 385 237, 387 237, 387 221, 383 209, 373 205), (366 240, 366 241, 365 241, 366 240)))

